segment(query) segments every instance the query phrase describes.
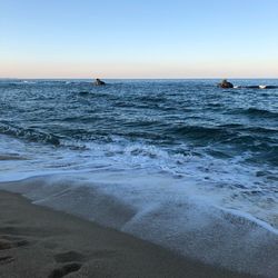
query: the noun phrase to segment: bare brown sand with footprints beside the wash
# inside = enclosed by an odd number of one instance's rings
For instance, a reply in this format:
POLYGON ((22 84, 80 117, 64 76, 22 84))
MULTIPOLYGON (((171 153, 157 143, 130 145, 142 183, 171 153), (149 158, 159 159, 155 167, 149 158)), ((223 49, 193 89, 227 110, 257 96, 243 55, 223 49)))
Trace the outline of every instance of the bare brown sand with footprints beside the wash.
POLYGON ((244 278, 0 191, 1 278, 244 278))

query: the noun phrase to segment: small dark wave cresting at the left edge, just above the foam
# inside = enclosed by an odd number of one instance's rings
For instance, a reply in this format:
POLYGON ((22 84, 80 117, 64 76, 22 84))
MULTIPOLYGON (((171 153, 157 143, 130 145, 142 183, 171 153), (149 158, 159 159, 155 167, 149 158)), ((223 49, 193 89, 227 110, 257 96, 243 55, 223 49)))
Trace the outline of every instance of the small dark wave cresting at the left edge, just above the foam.
POLYGON ((36 130, 33 128, 12 127, 10 125, 0 123, 0 133, 32 142, 50 143, 53 146, 60 145, 60 140, 57 136, 36 130))

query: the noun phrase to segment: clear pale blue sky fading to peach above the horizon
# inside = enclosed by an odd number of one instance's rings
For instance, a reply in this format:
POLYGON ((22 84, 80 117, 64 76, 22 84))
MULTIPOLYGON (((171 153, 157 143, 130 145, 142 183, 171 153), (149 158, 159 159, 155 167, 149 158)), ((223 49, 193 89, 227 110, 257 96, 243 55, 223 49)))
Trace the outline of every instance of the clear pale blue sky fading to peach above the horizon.
POLYGON ((0 0, 0 78, 278 78, 278 0, 0 0))

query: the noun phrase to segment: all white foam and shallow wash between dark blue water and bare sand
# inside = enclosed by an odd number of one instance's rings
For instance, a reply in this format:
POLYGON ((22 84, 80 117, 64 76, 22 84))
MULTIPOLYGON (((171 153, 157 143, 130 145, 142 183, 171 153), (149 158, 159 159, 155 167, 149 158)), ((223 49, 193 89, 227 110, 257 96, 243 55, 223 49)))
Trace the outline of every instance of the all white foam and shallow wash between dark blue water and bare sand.
POLYGON ((222 160, 120 138, 59 148, 0 139, 1 187, 34 203, 208 264, 268 277, 278 271, 276 169, 241 167, 248 152, 222 160))

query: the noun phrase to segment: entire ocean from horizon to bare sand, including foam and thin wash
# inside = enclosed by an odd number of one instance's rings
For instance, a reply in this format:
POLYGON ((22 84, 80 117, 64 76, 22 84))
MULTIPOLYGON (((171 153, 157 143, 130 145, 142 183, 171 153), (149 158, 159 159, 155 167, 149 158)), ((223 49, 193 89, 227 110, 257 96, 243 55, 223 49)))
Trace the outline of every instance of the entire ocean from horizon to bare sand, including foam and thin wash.
POLYGON ((278 259, 278 89, 217 82, 0 80, 2 187, 260 274, 260 248, 278 259))

